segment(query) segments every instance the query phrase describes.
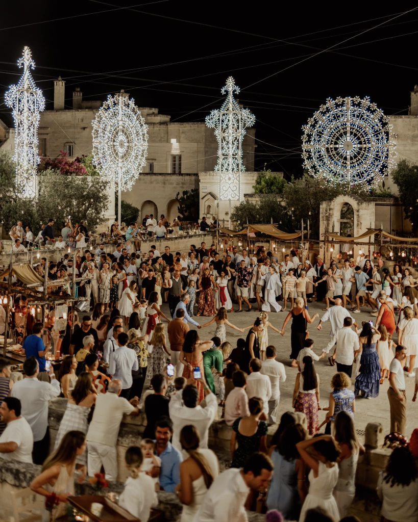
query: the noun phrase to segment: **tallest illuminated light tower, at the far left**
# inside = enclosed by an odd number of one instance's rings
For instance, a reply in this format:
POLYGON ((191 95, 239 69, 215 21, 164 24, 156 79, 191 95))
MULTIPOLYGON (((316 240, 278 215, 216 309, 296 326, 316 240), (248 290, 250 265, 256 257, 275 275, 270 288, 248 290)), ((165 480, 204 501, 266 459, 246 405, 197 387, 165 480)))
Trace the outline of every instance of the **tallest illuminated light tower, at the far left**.
POLYGON ((23 67, 23 74, 16 85, 11 85, 5 94, 5 103, 13 110, 15 122, 16 175, 19 190, 23 197, 37 196, 36 169, 40 162, 38 155, 39 113, 45 108, 45 99, 30 74, 34 69, 32 53, 25 46, 17 62, 23 67))

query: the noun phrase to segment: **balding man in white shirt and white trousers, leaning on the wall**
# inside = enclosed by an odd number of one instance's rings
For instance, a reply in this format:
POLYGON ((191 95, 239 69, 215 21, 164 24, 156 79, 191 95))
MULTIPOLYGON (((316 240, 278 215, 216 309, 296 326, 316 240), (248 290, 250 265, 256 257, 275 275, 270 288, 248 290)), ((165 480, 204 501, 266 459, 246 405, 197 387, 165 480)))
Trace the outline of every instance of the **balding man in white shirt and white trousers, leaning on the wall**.
POLYGON ((89 477, 100 473, 102 466, 107 480, 116 480, 118 477, 116 445, 122 418, 124 414, 138 415, 140 412, 137 408, 140 401, 138 397, 127 401, 124 397, 119 397, 121 389, 121 382, 113 379, 107 393, 97 396, 86 436, 89 477))

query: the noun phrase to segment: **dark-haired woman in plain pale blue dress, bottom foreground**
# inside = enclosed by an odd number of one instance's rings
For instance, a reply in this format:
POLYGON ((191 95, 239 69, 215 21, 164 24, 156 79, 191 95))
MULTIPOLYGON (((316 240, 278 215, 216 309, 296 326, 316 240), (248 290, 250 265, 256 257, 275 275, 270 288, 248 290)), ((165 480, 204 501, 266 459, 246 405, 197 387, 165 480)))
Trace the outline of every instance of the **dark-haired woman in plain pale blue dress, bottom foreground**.
POLYGON ((296 444, 304 441, 307 432, 300 424, 285 428, 280 441, 271 452, 273 478, 267 495, 267 507, 278 509, 286 520, 298 520, 306 496, 305 464, 296 444))

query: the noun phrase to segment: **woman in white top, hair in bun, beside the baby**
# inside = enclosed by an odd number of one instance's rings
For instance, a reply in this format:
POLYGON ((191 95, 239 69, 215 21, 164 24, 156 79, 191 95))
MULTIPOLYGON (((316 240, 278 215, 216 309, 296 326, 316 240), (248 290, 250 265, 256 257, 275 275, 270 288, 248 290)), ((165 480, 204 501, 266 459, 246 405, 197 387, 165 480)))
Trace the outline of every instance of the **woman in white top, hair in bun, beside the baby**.
POLYGON ((139 520, 148 520, 151 508, 158 503, 154 480, 141 470, 142 450, 138 446, 127 448, 125 462, 130 477, 119 497, 119 505, 139 520))

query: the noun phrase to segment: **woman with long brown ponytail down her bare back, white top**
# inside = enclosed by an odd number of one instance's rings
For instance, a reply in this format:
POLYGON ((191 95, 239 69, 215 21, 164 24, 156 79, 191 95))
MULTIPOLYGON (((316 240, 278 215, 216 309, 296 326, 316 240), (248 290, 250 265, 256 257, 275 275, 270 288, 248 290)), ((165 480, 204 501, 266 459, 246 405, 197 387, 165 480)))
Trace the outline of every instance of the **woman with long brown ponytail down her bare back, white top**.
POLYGON ((211 449, 199 448, 199 432, 193 425, 183 426, 180 444, 188 458, 180 464, 180 484, 176 492, 183 504, 180 522, 193 522, 207 490, 219 474, 219 463, 211 449))

